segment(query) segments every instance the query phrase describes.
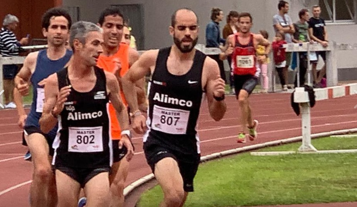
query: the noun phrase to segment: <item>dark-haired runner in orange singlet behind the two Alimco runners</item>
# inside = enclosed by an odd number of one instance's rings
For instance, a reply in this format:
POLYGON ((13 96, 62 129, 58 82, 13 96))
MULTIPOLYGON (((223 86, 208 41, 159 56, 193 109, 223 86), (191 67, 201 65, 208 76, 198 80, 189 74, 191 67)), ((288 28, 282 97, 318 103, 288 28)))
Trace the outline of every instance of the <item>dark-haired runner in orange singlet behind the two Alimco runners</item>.
MULTIPOLYGON (((103 53, 100 55, 97 65, 105 71, 116 73, 119 84, 121 84, 121 77, 123 77, 129 70, 129 67, 138 60, 139 54, 136 50, 131 49, 129 45, 120 43, 123 36, 124 17, 119 9, 115 7, 105 9, 99 17, 98 24, 103 29, 104 45, 103 53), (116 72, 117 70, 119 71, 119 76, 116 72)), ((143 83, 144 82, 141 81, 141 85, 137 85, 137 91, 143 90, 143 83)), ((145 95, 145 92, 143 93, 143 91, 141 91, 140 94, 145 95)), ((121 96, 123 103, 127 105, 122 91, 121 96)), ((127 134, 130 133, 130 131, 120 130, 120 125, 116 118, 116 111, 111 104, 109 104, 109 117, 114 156, 114 163, 111 167, 111 174, 109 175, 109 181, 111 183, 110 206, 123 206, 124 182, 128 175, 129 163, 126 159, 123 159, 127 152, 126 148, 123 147, 119 149, 118 143, 121 134, 127 134)))

